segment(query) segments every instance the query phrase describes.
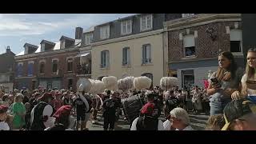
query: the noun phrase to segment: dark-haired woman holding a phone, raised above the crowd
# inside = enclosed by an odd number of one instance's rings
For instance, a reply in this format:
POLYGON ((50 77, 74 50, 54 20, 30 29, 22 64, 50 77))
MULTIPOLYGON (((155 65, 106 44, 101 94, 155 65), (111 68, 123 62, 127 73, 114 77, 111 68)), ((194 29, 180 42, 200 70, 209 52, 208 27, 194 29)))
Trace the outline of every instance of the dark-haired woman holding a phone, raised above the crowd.
POLYGON ((223 109, 231 101, 231 94, 241 88, 240 81, 243 70, 234 62, 229 51, 218 55, 218 70, 210 77, 207 94, 210 96, 210 115, 222 114, 223 109))

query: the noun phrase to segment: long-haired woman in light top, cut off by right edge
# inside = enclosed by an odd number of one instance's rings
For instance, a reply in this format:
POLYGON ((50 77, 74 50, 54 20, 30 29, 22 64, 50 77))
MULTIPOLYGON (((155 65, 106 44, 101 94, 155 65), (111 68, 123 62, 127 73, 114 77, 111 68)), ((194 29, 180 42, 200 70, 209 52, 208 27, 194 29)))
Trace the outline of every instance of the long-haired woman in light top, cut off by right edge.
POLYGON ((256 103, 256 48, 250 48, 248 50, 246 59, 246 74, 241 79, 242 89, 241 91, 235 91, 231 95, 231 98, 239 99, 247 97, 256 103))

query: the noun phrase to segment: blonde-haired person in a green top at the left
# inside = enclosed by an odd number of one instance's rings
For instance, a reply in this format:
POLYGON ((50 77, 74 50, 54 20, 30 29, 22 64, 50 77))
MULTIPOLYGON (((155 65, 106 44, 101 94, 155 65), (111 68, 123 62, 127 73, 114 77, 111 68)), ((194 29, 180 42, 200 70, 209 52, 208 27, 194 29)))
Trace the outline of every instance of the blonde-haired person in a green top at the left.
POLYGON ((19 130, 22 128, 22 126, 25 125, 25 114, 26 114, 26 108, 24 104, 22 103, 23 95, 22 94, 16 94, 14 98, 14 105, 13 105, 13 115, 14 115, 14 121, 13 126, 14 130, 19 130))

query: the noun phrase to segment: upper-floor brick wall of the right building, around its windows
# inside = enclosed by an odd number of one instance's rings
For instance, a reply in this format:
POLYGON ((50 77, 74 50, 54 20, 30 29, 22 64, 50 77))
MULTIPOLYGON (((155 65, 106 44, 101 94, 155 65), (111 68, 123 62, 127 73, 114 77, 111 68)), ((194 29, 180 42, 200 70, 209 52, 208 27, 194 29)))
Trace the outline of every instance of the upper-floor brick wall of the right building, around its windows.
MULTIPOLYGON (((219 49, 230 50, 230 34, 226 34, 226 26, 234 28, 234 22, 213 22, 202 26, 190 27, 190 34, 198 31, 198 38, 195 38, 195 50, 197 58, 216 58, 212 54, 219 49), (216 30, 217 38, 215 41, 206 34, 208 27, 216 30)), ((238 28, 241 29, 241 22, 238 22, 238 28)), ((179 61, 184 56, 183 40, 179 39, 179 34, 186 34, 186 29, 174 30, 168 32, 168 55, 169 62, 179 61)), ((184 36, 184 35, 183 35, 184 36)))

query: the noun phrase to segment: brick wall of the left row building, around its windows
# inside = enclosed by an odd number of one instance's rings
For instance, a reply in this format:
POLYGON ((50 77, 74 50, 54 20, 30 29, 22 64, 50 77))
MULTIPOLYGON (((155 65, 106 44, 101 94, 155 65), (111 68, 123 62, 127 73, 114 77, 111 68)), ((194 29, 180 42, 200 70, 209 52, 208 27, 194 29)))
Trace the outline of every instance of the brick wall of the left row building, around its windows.
MULTIPOLYGON (((61 77, 62 78, 62 85, 64 88, 67 88, 68 86, 68 80, 67 78, 74 78, 73 81, 73 87, 76 86, 76 82, 78 78, 76 78, 76 74, 78 72, 77 70, 77 65, 80 62, 79 58, 74 58, 79 52, 78 51, 72 51, 72 52, 63 52, 63 53, 58 53, 58 54, 44 54, 44 55, 39 55, 34 59, 34 71, 33 74, 37 78, 57 78, 61 77), (66 58, 74 58, 73 59, 73 72, 67 72, 67 59, 66 58), (58 74, 54 74, 52 72, 52 59, 58 58, 58 74), (45 63, 45 73, 44 74, 39 74, 39 61, 40 60, 46 60, 45 63)), ((27 77, 27 68, 28 68, 28 62, 32 61, 30 59, 18 59, 22 60, 23 62, 23 70, 22 70, 22 77, 27 77)), ((15 62, 15 77, 17 77, 17 64, 18 62, 15 62)), ((33 78, 35 79, 35 78, 33 78)), ((15 79, 15 84, 16 87, 21 87, 22 82, 26 82, 26 86, 28 86, 31 89, 32 86, 32 78, 16 78, 15 79)))

